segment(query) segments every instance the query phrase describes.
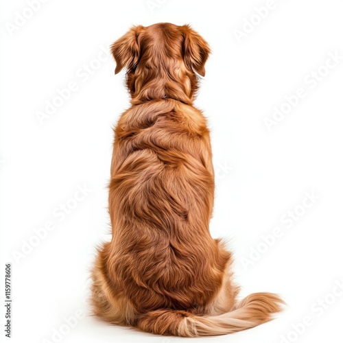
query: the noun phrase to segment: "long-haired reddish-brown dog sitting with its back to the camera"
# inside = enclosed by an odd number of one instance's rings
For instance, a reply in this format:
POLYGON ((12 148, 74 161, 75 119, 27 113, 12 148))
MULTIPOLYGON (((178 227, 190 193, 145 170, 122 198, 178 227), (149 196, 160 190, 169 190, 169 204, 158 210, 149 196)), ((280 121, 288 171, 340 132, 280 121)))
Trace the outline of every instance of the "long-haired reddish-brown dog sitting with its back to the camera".
POLYGON ((193 106, 208 43, 189 25, 132 27, 112 46, 131 107, 115 128, 108 210, 112 240, 92 270, 96 316, 160 335, 255 327, 283 300, 237 300, 231 253, 213 239, 214 172, 206 119, 193 106))

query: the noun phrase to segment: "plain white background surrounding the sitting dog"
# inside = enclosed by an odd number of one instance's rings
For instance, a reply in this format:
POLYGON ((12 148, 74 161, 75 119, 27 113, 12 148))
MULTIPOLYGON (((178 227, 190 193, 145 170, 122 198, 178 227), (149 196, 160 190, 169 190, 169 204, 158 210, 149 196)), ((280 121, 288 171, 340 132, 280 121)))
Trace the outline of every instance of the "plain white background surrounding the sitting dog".
MULTIPOLYGON (((84 318, 60 342, 182 340, 88 316, 88 270, 95 246, 110 239, 112 127, 129 106, 124 73, 115 75, 115 62, 101 51, 131 25, 157 22, 190 23, 213 51, 196 100, 209 118, 217 171, 211 233, 229 239, 241 296, 277 292, 287 302, 268 324, 196 340, 277 343, 285 336, 283 342, 305 343, 342 337, 343 296, 335 284, 343 281, 343 60, 329 71, 322 66, 329 53, 343 56, 343 4, 275 0, 264 19, 252 17, 256 25, 239 43, 234 30, 244 23, 249 29, 246 21, 265 5, 166 0, 150 10, 145 0, 50 0, 12 32, 16 12, 22 14, 27 2, 1 1, 0 299, 4 263, 12 263, 12 342, 56 342, 54 329, 64 325, 68 331, 64 316, 80 310, 84 318), (87 65, 96 70, 85 75, 87 65), (316 86, 306 83, 320 67, 327 75, 316 86), (77 91, 40 124, 37 111, 69 82, 76 82, 77 91), (263 119, 272 118, 274 106, 280 108, 298 88, 307 96, 268 131, 263 119), (78 185, 91 191, 61 220, 58 206, 75 205, 78 185), (320 197, 309 209, 302 207, 306 191, 320 197), (285 215, 294 209, 301 215, 286 225, 285 215), (16 259, 13 254, 47 221, 56 228, 16 259), (274 228, 283 235, 265 248, 261 236, 274 228), (265 252, 246 267, 242 261, 253 248, 265 252), (295 333, 292 325, 305 316, 311 325, 295 333)), ((1 342, 8 340, 3 329, 0 335, 1 342)))

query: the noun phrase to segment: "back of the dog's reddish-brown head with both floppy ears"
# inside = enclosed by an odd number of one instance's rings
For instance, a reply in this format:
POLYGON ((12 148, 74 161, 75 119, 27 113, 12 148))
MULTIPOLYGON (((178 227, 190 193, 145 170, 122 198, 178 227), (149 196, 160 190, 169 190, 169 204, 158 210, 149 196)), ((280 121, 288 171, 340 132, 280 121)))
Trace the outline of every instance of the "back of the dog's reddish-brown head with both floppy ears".
POLYGON ((132 27, 111 47, 115 73, 127 70, 132 102, 171 97, 191 103, 210 49, 189 25, 132 27), (183 94, 182 94, 183 93, 183 94))

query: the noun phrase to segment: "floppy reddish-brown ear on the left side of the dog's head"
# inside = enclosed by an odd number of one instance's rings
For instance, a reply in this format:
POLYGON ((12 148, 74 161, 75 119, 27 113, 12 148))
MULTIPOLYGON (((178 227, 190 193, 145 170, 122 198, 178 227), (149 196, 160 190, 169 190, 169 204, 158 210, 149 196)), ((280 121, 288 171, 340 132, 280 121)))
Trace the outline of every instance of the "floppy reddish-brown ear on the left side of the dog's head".
POLYGON ((110 50, 117 63, 116 74, 123 68, 132 69, 137 64, 141 52, 139 34, 142 30, 143 26, 134 26, 111 45, 110 50))

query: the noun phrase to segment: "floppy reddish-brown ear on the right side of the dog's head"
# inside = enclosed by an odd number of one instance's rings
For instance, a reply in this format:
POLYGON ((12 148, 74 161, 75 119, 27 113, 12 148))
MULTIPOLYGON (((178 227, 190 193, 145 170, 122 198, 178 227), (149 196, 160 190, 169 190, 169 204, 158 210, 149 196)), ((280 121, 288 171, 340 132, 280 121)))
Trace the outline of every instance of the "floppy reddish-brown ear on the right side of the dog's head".
POLYGON ((211 49, 209 44, 195 32, 189 25, 181 26, 182 35, 184 37, 183 43, 183 58, 186 66, 196 71, 199 75, 205 75, 205 63, 211 49))

